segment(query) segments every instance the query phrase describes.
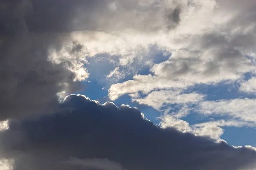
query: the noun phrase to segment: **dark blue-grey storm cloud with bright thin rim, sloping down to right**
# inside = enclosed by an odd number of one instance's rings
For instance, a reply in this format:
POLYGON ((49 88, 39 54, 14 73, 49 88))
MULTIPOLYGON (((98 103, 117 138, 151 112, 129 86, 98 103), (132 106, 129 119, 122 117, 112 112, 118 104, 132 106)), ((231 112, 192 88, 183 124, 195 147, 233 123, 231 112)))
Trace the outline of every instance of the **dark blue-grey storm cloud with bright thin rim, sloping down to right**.
POLYGON ((1 153, 15 159, 14 170, 71 170, 95 161, 129 170, 240 170, 256 160, 253 150, 162 129, 125 105, 73 95, 59 107, 55 114, 11 121, 2 132, 1 153))

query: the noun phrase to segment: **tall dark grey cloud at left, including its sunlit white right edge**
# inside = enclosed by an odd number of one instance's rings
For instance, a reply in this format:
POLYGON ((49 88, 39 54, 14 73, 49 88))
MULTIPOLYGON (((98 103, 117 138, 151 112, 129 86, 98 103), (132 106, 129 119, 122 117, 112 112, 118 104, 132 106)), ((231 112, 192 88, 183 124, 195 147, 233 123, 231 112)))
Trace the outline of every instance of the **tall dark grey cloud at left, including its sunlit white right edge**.
POLYGON ((17 0, 0 8, 0 120, 47 112, 57 94, 79 90, 88 77, 83 46, 65 33, 69 17, 59 4, 50 10, 46 1, 17 0))

